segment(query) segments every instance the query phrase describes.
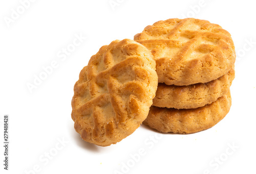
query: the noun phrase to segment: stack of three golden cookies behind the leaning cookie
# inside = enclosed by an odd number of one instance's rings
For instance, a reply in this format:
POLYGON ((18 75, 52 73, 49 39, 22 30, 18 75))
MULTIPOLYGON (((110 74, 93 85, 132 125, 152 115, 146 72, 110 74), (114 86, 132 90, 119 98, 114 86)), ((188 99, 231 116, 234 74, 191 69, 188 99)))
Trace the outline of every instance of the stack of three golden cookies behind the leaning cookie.
POLYGON ((168 19, 147 26, 134 40, 152 52, 159 82, 143 124, 188 134, 226 116, 236 60, 226 30, 206 20, 168 19))

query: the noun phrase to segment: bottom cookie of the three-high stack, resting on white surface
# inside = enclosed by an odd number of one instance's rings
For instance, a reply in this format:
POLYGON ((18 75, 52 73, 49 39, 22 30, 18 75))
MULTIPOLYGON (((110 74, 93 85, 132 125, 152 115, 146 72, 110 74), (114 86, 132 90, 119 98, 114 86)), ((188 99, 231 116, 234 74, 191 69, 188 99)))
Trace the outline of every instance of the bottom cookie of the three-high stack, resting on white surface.
POLYGON ((227 115, 230 106, 230 91, 211 104, 193 109, 152 106, 143 124, 162 133, 196 133, 217 124, 227 115))

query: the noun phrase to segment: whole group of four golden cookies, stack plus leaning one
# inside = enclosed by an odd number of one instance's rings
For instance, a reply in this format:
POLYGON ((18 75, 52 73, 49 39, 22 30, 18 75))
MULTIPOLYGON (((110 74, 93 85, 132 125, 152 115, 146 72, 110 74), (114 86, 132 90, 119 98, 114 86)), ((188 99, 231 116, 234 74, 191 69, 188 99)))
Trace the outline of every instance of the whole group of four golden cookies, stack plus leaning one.
POLYGON ((231 106, 235 59, 230 34, 194 18, 158 21, 134 40, 114 40, 75 83, 75 130, 84 141, 109 146, 141 123, 163 133, 214 126, 231 106))

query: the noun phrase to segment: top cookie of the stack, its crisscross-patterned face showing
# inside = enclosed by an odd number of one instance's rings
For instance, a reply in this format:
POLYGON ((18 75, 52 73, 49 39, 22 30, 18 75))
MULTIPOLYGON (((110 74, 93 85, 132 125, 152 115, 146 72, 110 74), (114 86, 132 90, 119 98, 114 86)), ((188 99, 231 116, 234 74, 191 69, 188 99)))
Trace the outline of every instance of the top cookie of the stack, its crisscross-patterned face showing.
POLYGON ((236 59, 230 34, 207 20, 161 20, 136 34, 134 40, 152 52, 158 82, 167 85, 215 80, 229 72, 236 59))

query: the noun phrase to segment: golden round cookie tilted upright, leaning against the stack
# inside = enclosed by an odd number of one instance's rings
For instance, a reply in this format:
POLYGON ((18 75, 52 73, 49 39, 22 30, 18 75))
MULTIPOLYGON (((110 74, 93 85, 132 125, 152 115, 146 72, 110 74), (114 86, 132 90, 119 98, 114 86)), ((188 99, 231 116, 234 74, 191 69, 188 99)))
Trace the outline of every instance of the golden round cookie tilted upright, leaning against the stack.
POLYGON ((71 116, 81 138, 109 146, 131 135, 155 97, 155 70, 151 52, 134 40, 101 47, 74 86, 71 116))

